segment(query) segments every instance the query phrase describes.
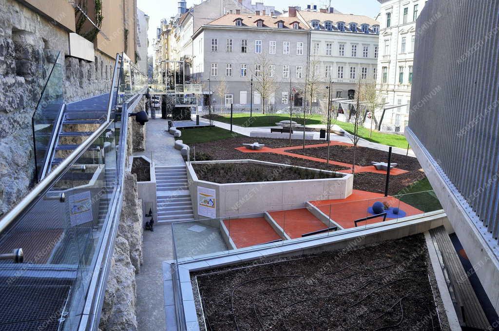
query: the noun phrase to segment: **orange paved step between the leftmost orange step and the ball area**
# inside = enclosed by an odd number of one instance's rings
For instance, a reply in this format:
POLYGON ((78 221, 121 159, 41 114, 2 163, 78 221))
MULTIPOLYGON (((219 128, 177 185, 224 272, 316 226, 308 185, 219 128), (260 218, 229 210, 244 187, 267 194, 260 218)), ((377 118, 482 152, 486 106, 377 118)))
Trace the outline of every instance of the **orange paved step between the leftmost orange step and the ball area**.
POLYGON ((306 208, 270 211, 270 216, 291 239, 301 238, 304 233, 326 229, 327 226, 306 208))

